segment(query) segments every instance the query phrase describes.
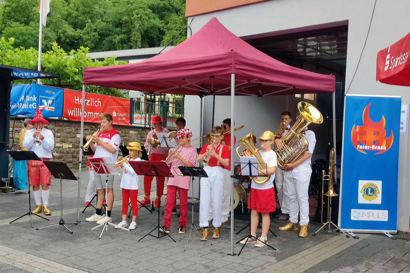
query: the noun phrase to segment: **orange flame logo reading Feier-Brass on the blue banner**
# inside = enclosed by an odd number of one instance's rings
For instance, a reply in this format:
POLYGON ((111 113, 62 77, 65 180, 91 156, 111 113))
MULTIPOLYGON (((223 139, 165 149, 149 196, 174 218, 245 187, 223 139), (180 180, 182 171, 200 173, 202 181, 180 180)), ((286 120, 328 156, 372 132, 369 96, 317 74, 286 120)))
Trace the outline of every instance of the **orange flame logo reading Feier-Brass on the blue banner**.
POLYGON ((393 144, 393 130, 389 137, 386 137, 386 120, 382 116, 379 122, 374 122, 369 116, 370 103, 363 110, 363 125, 353 125, 351 132, 352 144, 356 150, 367 154, 366 150, 378 151, 375 155, 389 150, 393 144))

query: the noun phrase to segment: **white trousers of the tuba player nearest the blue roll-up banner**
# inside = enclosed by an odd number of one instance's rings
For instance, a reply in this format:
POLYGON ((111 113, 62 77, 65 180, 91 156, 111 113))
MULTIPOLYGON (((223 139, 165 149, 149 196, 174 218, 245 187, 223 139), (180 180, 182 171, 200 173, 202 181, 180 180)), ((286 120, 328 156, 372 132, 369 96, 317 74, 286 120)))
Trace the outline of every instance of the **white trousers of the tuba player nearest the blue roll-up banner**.
POLYGON ((312 170, 293 173, 285 171, 283 178, 289 196, 289 220, 298 223, 300 214, 301 225, 309 223, 309 181, 312 170))

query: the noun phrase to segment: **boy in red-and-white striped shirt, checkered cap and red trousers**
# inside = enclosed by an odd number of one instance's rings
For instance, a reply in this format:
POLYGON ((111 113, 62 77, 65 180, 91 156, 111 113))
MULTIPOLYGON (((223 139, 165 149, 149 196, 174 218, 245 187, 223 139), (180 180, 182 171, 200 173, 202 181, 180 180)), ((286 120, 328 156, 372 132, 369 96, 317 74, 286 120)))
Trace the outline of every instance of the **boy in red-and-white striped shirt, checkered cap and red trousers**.
MULTIPOLYGON (((164 226, 159 229, 162 233, 169 233, 169 227, 171 226, 171 213, 172 208, 175 207, 175 197, 176 191, 180 196, 180 227, 178 229, 178 234, 185 233, 185 227, 187 226, 187 211, 188 211, 188 190, 191 184, 190 176, 180 176, 181 171, 178 166, 195 166, 196 163, 196 148, 189 144, 189 139, 191 139, 192 132, 189 129, 178 130, 177 132, 178 141, 180 141, 181 146, 178 151, 173 155, 173 160, 171 163, 171 171, 173 177, 168 178, 167 182, 167 198, 165 203, 165 214, 164 214, 164 226)), ((169 152, 173 152, 174 149, 170 149, 169 152)))

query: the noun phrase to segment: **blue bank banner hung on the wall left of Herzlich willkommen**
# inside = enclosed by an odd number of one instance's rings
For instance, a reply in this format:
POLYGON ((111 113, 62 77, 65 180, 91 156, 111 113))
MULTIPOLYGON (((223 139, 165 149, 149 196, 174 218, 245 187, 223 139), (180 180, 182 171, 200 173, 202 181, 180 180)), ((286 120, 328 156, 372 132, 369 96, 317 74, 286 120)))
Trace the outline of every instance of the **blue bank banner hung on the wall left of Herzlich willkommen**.
POLYGON ((45 118, 63 114, 64 89, 41 84, 20 84, 11 87, 10 115, 34 116, 39 107, 45 118))

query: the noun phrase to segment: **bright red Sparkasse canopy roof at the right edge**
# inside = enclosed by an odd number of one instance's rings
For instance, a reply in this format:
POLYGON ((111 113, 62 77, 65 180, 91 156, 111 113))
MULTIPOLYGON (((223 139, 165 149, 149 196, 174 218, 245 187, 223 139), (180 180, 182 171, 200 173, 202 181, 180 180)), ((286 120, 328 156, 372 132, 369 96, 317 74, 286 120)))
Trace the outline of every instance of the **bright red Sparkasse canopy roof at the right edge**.
POLYGON ((377 53, 376 81, 410 86, 410 32, 377 53))

